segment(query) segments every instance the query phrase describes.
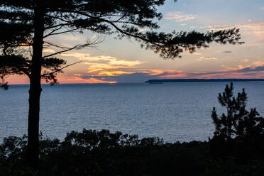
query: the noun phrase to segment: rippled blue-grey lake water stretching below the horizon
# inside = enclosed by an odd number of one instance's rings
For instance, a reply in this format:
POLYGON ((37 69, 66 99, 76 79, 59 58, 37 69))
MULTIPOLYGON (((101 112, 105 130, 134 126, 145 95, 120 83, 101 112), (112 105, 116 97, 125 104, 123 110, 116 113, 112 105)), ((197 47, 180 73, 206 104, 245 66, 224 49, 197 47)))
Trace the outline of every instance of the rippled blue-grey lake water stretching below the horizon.
MULTIPOLYGON (((64 138, 69 131, 109 129, 164 141, 204 141, 214 125, 211 109, 224 111, 217 95, 228 82, 167 84, 60 84, 43 85, 40 131, 64 138)), ((235 82, 244 87, 248 109, 264 116, 264 82, 235 82)), ((27 133, 28 85, 0 89, 0 139, 27 133)))

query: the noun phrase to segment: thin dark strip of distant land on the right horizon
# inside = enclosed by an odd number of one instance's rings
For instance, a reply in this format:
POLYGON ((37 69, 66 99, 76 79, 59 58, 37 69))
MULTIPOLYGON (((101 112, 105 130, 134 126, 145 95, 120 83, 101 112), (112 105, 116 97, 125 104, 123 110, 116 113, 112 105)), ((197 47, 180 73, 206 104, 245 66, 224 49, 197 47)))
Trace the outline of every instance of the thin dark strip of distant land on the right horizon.
POLYGON ((264 79, 149 79, 145 83, 162 84, 166 82, 264 82, 264 79))

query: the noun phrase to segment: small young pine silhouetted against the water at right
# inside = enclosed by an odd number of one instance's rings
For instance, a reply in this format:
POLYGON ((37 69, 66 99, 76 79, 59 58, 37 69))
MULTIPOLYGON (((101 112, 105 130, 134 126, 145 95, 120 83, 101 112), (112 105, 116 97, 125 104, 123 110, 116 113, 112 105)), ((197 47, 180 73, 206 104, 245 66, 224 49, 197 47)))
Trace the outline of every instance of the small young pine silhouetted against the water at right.
POLYGON ((248 97, 245 89, 233 97, 233 83, 226 85, 225 91, 219 93, 218 101, 226 108, 226 114, 217 116, 216 109, 211 112, 216 131, 214 137, 220 137, 224 141, 237 138, 238 141, 253 142, 264 134, 264 119, 260 117, 256 109, 246 110, 248 97))

